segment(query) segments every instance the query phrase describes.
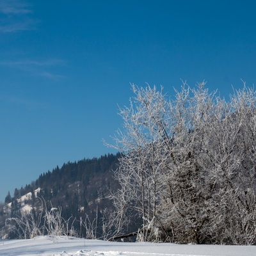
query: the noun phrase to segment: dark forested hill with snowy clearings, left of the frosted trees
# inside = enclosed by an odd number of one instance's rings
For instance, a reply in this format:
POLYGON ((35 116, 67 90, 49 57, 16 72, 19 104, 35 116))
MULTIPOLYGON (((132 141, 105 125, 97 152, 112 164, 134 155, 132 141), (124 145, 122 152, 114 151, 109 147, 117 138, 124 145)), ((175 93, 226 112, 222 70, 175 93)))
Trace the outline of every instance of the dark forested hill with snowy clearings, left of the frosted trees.
POLYGON ((60 208, 66 220, 70 216, 89 216, 93 220, 95 214, 99 216, 109 207, 108 195, 118 188, 112 170, 118 167, 119 157, 118 153, 68 162, 42 173, 31 184, 15 189, 13 196, 8 193, 0 209, 0 225, 3 227, 6 218, 20 216, 28 207, 38 211, 42 200, 48 209, 60 208))

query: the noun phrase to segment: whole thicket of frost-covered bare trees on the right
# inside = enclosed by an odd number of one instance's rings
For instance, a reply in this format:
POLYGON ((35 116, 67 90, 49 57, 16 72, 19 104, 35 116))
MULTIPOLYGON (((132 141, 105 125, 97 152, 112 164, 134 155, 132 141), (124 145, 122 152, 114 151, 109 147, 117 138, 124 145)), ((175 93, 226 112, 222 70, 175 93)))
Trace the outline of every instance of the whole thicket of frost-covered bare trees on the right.
POLYGON ((205 83, 163 88, 132 85, 113 196, 116 233, 141 218, 140 239, 178 243, 256 243, 256 93, 244 84, 227 102, 205 83))

